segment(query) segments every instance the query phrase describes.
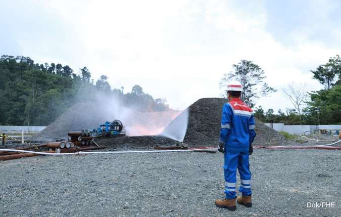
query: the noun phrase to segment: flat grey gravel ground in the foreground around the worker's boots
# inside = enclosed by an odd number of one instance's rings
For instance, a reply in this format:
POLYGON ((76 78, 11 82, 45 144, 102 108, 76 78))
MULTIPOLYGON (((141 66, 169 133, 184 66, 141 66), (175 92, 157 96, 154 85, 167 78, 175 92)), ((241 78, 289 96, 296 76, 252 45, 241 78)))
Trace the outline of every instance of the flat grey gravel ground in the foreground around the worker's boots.
POLYGON ((254 207, 232 212, 214 205, 224 197, 221 153, 23 158, 0 162, 0 215, 341 216, 340 163, 340 151, 257 149, 254 207))

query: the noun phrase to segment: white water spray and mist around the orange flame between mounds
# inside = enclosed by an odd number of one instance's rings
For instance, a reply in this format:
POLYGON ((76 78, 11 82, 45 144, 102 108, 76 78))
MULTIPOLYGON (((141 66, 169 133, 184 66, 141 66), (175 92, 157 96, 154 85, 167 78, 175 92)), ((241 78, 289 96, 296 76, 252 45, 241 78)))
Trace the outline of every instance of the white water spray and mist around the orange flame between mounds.
POLYGON ((184 139, 188 122, 188 110, 139 112, 125 108, 121 100, 114 96, 97 93, 96 98, 97 100, 94 102, 96 111, 89 115, 98 118, 99 124, 118 119, 122 121, 127 136, 161 135, 180 142, 184 139), (176 121, 173 121, 173 123, 172 120, 174 119, 176 121), (168 126, 171 126, 172 130, 167 129, 168 126))

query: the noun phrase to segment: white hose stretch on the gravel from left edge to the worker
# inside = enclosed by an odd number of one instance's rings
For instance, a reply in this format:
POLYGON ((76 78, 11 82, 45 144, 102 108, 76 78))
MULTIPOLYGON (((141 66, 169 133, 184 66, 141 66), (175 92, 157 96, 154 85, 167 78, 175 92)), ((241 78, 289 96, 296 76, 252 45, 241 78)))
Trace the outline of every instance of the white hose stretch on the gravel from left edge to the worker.
POLYGON ((41 155, 73 155, 73 154, 124 154, 124 153, 150 153, 150 152, 183 152, 183 151, 198 151, 198 150, 218 150, 217 148, 206 148, 206 149, 185 149, 185 150, 149 150, 149 151, 81 151, 72 153, 45 153, 37 151, 26 151, 26 150, 16 150, 16 149, 0 149, 0 151, 6 152, 24 152, 31 154, 41 154, 41 155))

